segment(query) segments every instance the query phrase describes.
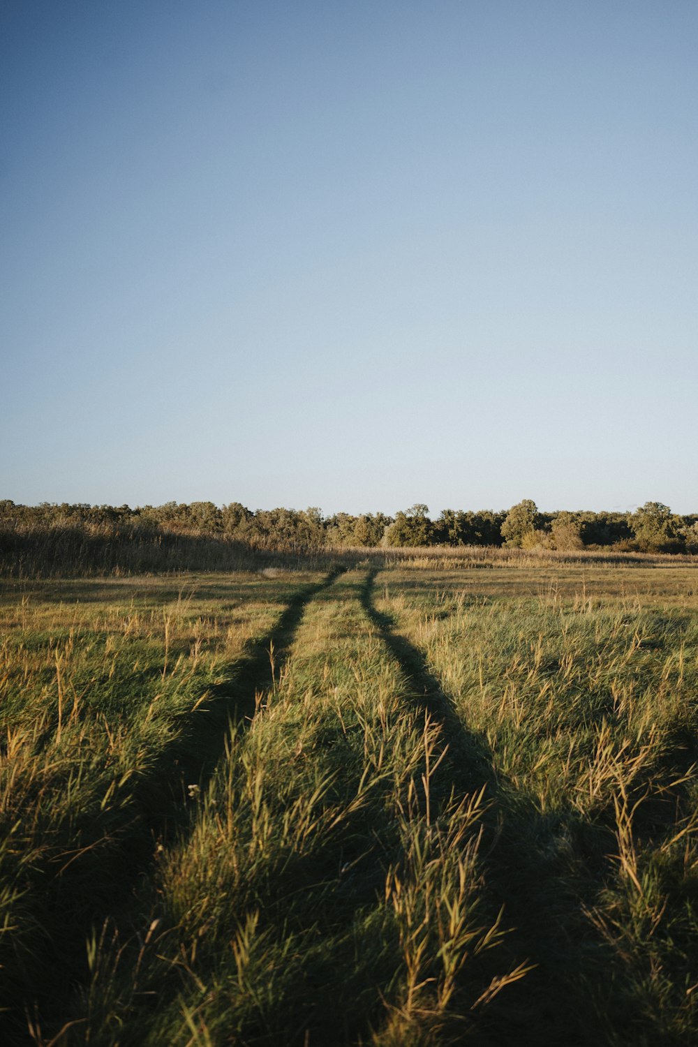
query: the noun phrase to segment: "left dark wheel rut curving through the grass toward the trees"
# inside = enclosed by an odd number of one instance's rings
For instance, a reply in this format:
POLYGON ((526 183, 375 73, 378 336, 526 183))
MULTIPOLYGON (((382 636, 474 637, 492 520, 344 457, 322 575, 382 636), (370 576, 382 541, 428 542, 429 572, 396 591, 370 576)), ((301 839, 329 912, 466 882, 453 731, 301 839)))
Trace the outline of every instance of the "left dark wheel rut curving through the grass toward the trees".
MULTIPOLYGON (((329 588, 346 569, 338 566, 312 585, 292 595, 275 624, 263 636, 248 643, 242 659, 229 666, 226 678, 209 688, 209 697, 200 710, 189 714, 189 722, 176 739, 157 756, 134 789, 133 802, 118 843, 110 853, 110 886, 108 899, 104 895, 92 899, 85 892, 85 905, 80 920, 72 915, 70 922, 60 918, 46 934, 42 964, 51 965, 50 995, 31 1001, 18 1000, 15 1027, 25 1026, 22 1012, 30 1016, 36 1028, 51 1035, 61 1029, 66 1001, 80 996, 89 978, 86 941, 94 933, 110 926, 125 948, 137 943, 143 913, 152 905, 153 879, 157 852, 175 840, 186 838, 193 825, 190 795, 208 785, 216 766, 225 753, 231 728, 251 721, 255 711, 255 694, 272 684, 274 667, 287 660, 306 607, 323 589, 329 588), (196 785, 196 789, 190 786, 196 785), (47 956, 47 953, 54 955, 47 956)), ((48 910, 61 912, 61 896, 71 888, 71 869, 47 886, 48 910)), ((30 979, 35 984, 40 979, 30 979)), ((17 1043, 38 1042, 22 1037, 17 1043)), ((43 1041, 42 1041, 43 1042, 43 1041)), ((53 1042, 53 1041, 51 1041, 53 1042)), ((63 1042, 63 1040, 61 1040, 63 1042)))

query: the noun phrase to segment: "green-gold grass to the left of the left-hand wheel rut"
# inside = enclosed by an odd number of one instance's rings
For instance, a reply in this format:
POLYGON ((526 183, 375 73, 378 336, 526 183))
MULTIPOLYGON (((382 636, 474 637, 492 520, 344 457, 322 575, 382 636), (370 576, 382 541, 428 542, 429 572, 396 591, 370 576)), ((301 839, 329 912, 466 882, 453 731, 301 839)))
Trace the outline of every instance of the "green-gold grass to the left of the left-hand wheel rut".
POLYGON ((309 580, 229 580, 215 600, 83 582, 80 603, 57 602, 65 586, 44 583, 0 606, 0 1006, 10 1039, 37 1001, 48 1015, 65 1008, 86 935, 128 910, 154 849, 186 820, 186 777, 222 749, 255 638, 309 580))

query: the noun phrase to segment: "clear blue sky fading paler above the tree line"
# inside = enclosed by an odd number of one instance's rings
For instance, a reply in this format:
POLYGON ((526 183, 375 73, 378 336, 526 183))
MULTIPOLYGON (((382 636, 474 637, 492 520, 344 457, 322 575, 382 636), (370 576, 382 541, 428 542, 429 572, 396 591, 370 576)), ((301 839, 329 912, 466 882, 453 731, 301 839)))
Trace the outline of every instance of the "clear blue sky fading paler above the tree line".
POLYGON ((695 0, 2 0, 0 497, 698 511, 695 0))

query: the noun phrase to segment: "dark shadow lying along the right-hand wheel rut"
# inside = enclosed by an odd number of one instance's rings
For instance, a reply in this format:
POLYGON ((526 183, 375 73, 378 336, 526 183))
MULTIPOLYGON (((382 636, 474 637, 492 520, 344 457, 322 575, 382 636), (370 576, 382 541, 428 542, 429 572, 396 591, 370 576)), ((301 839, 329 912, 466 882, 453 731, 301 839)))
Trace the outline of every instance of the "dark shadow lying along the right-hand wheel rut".
POLYGON ((608 1042, 607 1026, 594 1010, 603 981, 608 981, 609 956, 603 941, 582 914, 600 887, 613 837, 608 830, 580 823, 571 808, 547 815, 533 797, 498 777, 492 751, 468 731, 422 651, 395 631, 389 615, 374 603, 377 571, 369 571, 361 593, 362 606, 379 630, 415 696, 441 723, 448 745, 445 776, 458 794, 486 786, 483 861, 486 897, 494 911, 503 904, 509 929, 500 949, 511 966, 525 961, 533 970, 489 1007, 478 1025, 487 1044, 569 1045, 586 1047, 608 1042), (577 875, 561 845, 577 830, 577 875))

